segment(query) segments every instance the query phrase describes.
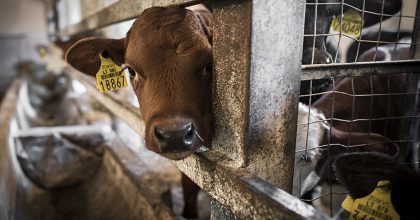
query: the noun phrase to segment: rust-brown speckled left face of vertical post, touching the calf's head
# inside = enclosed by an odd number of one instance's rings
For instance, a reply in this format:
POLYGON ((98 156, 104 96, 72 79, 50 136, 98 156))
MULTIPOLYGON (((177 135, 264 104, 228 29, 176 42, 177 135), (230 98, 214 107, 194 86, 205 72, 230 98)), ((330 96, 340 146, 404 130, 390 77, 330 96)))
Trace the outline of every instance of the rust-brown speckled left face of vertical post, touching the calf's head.
POLYGON ((212 150, 241 167, 246 165, 251 1, 217 1, 213 14, 212 150))

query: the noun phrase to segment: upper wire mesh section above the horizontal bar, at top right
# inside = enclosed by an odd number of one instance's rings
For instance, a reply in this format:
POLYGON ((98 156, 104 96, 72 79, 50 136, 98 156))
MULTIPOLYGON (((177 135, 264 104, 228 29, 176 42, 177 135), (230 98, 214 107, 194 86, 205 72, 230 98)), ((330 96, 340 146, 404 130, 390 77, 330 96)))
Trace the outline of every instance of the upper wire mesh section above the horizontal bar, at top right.
POLYGON ((418 0, 306 2, 304 65, 412 57, 418 0))

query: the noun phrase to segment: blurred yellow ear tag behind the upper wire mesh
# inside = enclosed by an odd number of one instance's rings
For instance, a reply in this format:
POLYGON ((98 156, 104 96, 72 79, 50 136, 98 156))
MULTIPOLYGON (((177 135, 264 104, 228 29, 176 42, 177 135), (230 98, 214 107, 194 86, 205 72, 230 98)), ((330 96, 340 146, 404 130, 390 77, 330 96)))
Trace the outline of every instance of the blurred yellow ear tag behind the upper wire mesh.
POLYGON ((349 9, 342 17, 336 16, 331 23, 331 27, 335 32, 340 32, 341 19, 343 21, 343 24, 341 25, 341 33, 356 37, 360 35, 364 21, 362 20, 362 16, 359 11, 349 9))

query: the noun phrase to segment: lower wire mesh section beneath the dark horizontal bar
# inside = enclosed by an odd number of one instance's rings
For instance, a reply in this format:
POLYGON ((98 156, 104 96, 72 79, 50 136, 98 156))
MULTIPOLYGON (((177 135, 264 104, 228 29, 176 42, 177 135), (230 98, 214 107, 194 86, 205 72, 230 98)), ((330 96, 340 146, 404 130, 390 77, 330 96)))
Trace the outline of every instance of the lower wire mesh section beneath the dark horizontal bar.
POLYGON ((309 80, 311 90, 300 95, 311 108, 299 108, 293 194, 335 215, 346 189, 331 162, 343 153, 379 152, 417 169, 418 74, 331 78, 331 88, 320 93, 312 93, 317 80, 309 80))

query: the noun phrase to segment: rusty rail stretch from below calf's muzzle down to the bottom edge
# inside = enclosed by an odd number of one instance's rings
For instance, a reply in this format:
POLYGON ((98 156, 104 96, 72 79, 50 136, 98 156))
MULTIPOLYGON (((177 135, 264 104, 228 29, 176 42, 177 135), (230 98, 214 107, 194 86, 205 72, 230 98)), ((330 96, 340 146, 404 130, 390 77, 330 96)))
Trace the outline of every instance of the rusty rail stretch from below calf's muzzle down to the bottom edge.
POLYGON ((196 155, 175 164, 238 219, 328 219, 246 171, 215 165, 196 155))

